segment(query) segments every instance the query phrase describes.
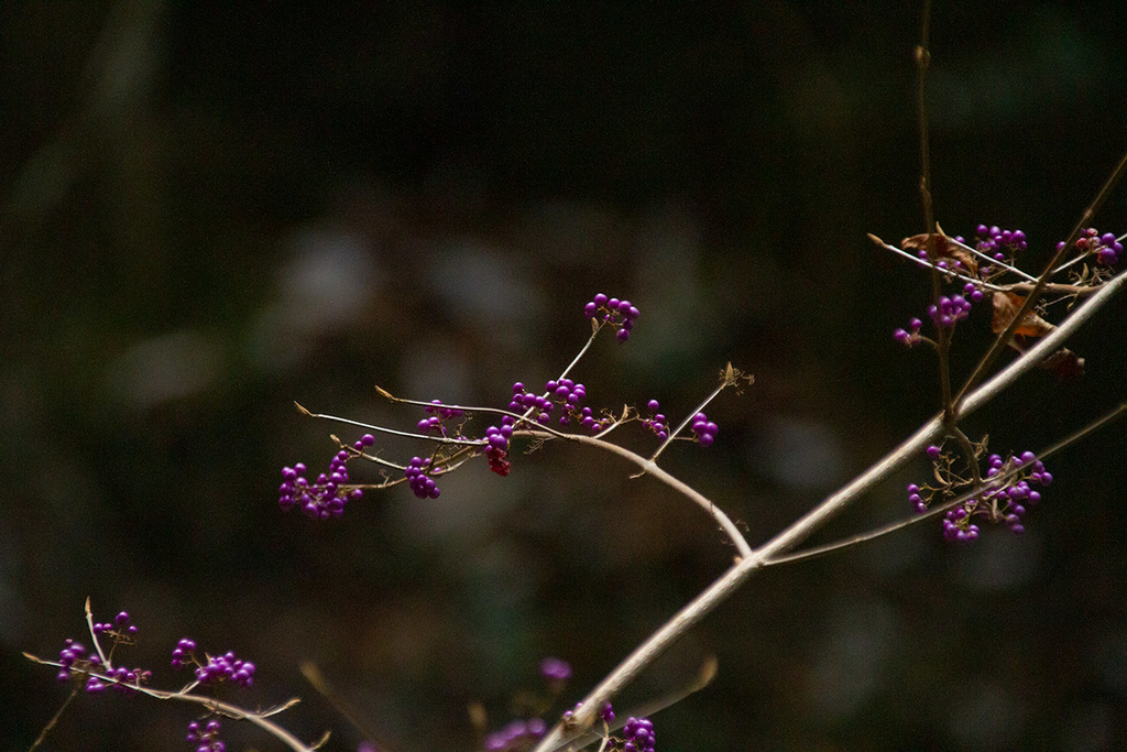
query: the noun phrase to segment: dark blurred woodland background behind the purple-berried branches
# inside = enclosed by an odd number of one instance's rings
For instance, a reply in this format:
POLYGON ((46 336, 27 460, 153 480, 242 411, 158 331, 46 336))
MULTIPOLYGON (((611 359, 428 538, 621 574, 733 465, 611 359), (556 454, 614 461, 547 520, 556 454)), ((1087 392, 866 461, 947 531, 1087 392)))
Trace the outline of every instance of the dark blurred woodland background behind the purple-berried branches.
MULTIPOLYGON (((1021 228, 1039 268, 1127 147, 1122 3, 938 3, 930 80, 943 228, 1021 228)), ((141 627, 123 656, 177 688, 184 636, 254 660, 232 696, 390 749, 470 750, 536 690, 583 696, 730 561, 700 511, 592 451, 508 478, 476 461, 437 501, 369 493, 343 520, 277 507, 327 466, 314 410, 410 427, 415 398, 500 406, 558 373, 603 290, 641 309, 577 371, 593 406, 683 416, 727 362, 709 450, 666 467, 754 543, 938 407, 896 327, 919 268, 866 239, 922 231, 917 3, 5 3, 0 11, 0 640, 5 749, 66 696, 82 603, 141 627)), ((1124 232, 1120 191, 1097 220, 1124 232)), ((1053 310, 1062 315, 1063 308, 1053 310)), ((1041 449, 1124 400, 1127 302, 968 421, 1041 449)), ((960 325, 957 374, 988 342, 960 325)), ((1010 356, 1005 356, 1005 361, 1010 356)), ((648 451, 639 431, 623 441, 648 451)), ((1122 749, 1124 424, 1054 458, 1028 532, 938 524, 752 580, 618 702, 689 681, 662 750, 1122 749)), ((409 442, 381 442, 402 461, 409 442)), ((374 480, 357 467, 355 478, 374 480)), ((923 462, 825 539, 909 513, 923 462)), ((45 749, 188 749, 187 707, 81 697, 45 749)), ((281 749, 225 724, 229 749, 281 749)))

